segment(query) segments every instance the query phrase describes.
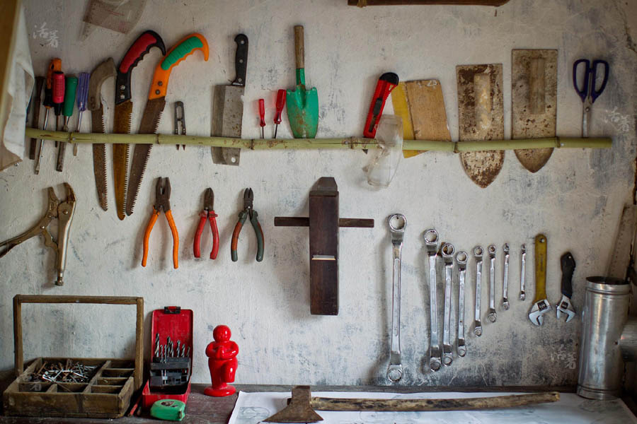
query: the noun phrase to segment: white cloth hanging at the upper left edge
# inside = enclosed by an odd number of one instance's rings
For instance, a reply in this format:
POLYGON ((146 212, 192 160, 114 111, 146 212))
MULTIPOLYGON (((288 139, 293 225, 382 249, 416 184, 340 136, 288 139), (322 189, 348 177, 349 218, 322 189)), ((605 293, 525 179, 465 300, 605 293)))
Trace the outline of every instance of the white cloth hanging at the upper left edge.
POLYGON ((4 116, 0 117, 0 170, 23 160, 26 108, 33 90, 33 65, 23 5, 18 13, 16 44, 8 60, 11 70, 4 87, 4 116))

